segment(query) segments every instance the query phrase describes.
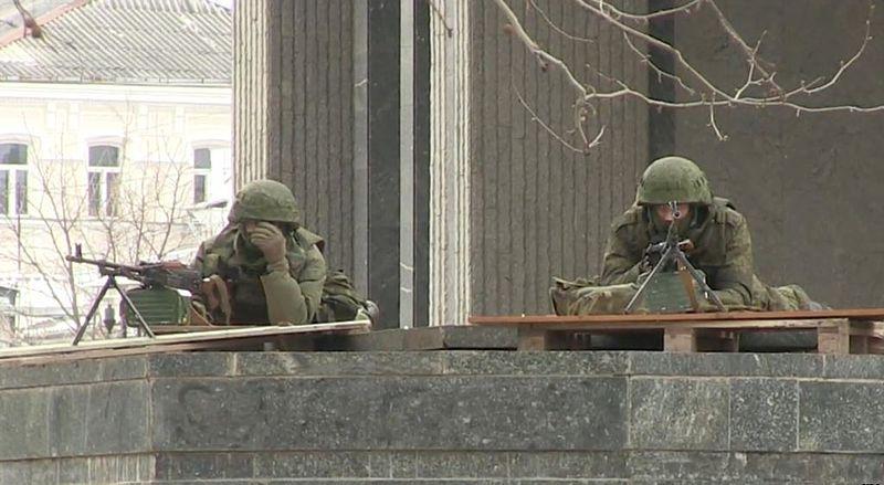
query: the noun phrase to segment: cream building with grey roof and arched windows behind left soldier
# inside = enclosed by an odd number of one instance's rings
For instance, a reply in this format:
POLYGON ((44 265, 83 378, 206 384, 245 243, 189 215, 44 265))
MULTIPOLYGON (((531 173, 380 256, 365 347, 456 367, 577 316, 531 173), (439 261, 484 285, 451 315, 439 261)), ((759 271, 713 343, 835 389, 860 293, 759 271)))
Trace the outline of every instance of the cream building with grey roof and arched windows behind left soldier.
POLYGON ((230 10, 31 6, 42 35, 0 32, 0 285, 24 339, 69 333, 103 283, 64 261, 75 243, 123 263, 176 255, 232 191, 230 10))

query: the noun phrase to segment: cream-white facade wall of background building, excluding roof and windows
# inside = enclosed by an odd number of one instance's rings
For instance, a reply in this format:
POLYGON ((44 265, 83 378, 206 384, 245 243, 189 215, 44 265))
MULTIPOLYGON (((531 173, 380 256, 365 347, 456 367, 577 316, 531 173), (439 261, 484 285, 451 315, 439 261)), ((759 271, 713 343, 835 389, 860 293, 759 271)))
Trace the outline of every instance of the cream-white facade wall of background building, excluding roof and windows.
MULTIPOLYGON (((62 313, 57 299, 71 299, 63 255, 73 242, 83 242, 87 256, 134 263, 155 259, 158 247, 164 256, 187 252, 218 230, 219 218, 192 208, 192 157, 197 148, 212 150, 207 197, 230 199, 229 87, 0 83, 0 143, 30 147, 28 214, 0 214, 0 281, 21 292, 29 315, 20 326, 48 321, 62 313), (120 147, 117 203, 127 209, 117 218, 87 211, 88 148, 96 144, 120 147)), ((101 282, 94 267, 75 273, 85 310, 101 282)))

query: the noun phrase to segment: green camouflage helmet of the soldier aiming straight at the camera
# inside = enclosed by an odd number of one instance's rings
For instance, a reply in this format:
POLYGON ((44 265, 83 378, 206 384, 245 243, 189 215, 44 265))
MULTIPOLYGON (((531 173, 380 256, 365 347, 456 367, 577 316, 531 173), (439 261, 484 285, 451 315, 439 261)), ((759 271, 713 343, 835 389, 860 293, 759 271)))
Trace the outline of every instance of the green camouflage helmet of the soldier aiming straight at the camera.
POLYGON ((642 175, 635 202, 643 205, 671 201, 712 203, 712 190, 703 170, 683 157, 663 157, 654 160, 642 175))

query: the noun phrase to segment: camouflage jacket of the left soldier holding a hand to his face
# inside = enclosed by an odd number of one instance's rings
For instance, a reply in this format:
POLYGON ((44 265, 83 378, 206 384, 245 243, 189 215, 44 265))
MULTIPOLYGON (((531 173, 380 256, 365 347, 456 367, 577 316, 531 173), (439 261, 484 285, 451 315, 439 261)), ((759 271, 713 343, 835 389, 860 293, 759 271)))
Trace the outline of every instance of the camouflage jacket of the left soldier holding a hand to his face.
POLYGON ((299 228, 287 234, 288 276, 269 275, 263 253, 245 244, 238 224, 229 224, 215 238, 204 241, 192 266, 203 276, 220 275, 230 292, 234 324, 267 324, 269 305, 281 308, 294 325, 316 316, 326 277, 323 239, 299 228))

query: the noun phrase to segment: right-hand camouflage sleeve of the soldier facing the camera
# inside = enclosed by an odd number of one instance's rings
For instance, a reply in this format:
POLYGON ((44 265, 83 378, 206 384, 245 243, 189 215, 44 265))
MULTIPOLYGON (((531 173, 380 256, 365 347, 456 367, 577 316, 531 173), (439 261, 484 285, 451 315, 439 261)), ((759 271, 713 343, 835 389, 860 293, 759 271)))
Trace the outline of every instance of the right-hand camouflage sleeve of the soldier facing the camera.
POLYGON ((716 268, 709 286, 725 305, 753 306, 755 266, 749 226, 737 212, 728 214, 728 219, 730 236, 725 244, 724 264, 716 268))

